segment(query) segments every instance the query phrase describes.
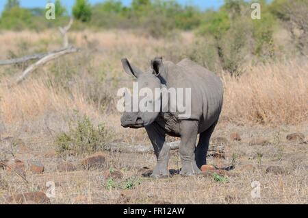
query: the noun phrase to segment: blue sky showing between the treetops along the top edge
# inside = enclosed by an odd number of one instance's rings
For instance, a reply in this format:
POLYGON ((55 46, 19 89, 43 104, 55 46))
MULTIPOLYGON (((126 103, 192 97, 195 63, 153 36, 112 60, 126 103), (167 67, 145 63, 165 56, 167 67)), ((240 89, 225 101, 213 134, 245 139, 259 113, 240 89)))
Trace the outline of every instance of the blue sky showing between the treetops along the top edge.
MULTIPOLYGON (((0 0, 0 12, 2 12, 3 7, 5 5, 7 0, 0 0)), ((104 0, 89 0, 90 3, 99 3, 103 2, 104 0)), ((207 9, 207 8, 219 8, 220 5, 223 4, 224 0, 177 0, 179 3, 185 5, 187 3, 191 3, 194 5, 197 5, 200 7, 202 10, 207 9)), ((21 6, 25 8, 34 8, 34 7, 40 7, 44 8, 44 6, 47 3, 47 0, 20 0, 21 6)), ((62 0, 62 3, 66 5, 67 8, 71 8, 72 5, 74 4, 75 0, 62 0)), ((131 3, 131 0, 122 0, 122 2, 125 5, 129 5, 131 3)))

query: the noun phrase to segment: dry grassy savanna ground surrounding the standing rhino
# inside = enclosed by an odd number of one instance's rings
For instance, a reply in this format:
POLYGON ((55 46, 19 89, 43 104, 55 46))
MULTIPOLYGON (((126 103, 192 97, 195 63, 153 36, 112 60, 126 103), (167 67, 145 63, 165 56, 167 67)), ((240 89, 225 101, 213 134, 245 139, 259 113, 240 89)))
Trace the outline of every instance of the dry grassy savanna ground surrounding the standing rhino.
MULTIPOLYGON (((56 186, 52 204, 308 203, 308 145, 286 138, 294 132, 304 134, 306 140, 308 137, 307 58, 247 63, 240 77, 216 72, 224 82, 225 92, 223 112, 213 137, 224 137, 227 143, 225 158, 209 158, 208 162, 216 167, 232 163, 235 169, 222 177, 174 175, 154 180, 140 173, 142 167, 155 166, 153 154, 103 151, 104 169, 85 170, 80 162, 91 150, 77 155, 60 150, 59 137, 74 130, 78 121, 82 125, 86 116, 94 129, 103 123, 103 136, 96 135, 100 143, 150 146, 144 130, 120 127, 116 91, 130 87, 133 81, 123 73, 120 59, 127 57, 142 69, 149 67, 155 56, 177 62, 191 53, 192 47, 198 52, 194 35, 153 39, 128 30, 84 31, 70 33, 70 40, 81 52, 50 62, 21 84, 16 85, 15 80, 25 66, 0 68, 1 160, 14 156, 25 162, 28 181, 0 169, 1 203, 15 193, 46 191, 48 181, 56 186), (233 141, 233 132, 238 132, 242 140, 233 141), (8 142, 3 140, 6 137, 19 139, 10 152, 3 149, 8 148, 8 142), (56 166, 63 160, 72 162, 76 170, 58 172, 56 166), (33 161, 42 162, 44 173, 31 173, 29 165, 33 161), (267 173, 270 166, 282 167, 285 172, 267 173), (105 178, 104 172, 110 170, 121 171, 124 177, 105 178), (259 198, 252 198, 253 181, 261 185, 259 198)), ((1 32, 0 42, 0 60, 4 60, 56 49, 61 38, 52 31, 1 32)), ((169 166, 181 167, 177 152, 172 152, 169 166)))

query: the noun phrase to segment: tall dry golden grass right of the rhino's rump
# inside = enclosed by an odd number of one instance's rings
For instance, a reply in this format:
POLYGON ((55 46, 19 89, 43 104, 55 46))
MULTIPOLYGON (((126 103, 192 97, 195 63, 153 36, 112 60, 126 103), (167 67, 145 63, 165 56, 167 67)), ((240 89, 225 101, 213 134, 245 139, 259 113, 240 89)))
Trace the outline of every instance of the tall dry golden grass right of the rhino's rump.
POLYGON ((254 123, 308 121, 307 78, 307 60, 255 66, 238 78, 224 75, 224 114, 254 123))

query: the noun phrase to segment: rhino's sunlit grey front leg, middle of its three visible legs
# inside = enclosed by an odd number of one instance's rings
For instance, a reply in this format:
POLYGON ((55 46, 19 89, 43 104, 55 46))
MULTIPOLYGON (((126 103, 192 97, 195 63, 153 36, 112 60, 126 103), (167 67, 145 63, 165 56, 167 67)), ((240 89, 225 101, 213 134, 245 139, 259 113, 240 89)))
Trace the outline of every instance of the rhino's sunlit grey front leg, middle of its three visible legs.
POLYGON ((195 160, 198 121, 181 121, 181 144, 179 154, 182 162, 181 175, 196 175, 200 173, 195 160))

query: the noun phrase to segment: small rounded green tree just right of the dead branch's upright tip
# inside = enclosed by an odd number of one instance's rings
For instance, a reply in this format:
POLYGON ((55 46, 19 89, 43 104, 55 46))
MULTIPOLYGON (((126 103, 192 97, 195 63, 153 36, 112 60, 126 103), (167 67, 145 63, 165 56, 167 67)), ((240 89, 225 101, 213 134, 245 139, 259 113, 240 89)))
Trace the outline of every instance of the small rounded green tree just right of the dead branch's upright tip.
POLYGON ((73 16, 75 19, 88 22, 92 16, 91 5, 87 0, 76 0, 75 5, 73 6, 73 16))

